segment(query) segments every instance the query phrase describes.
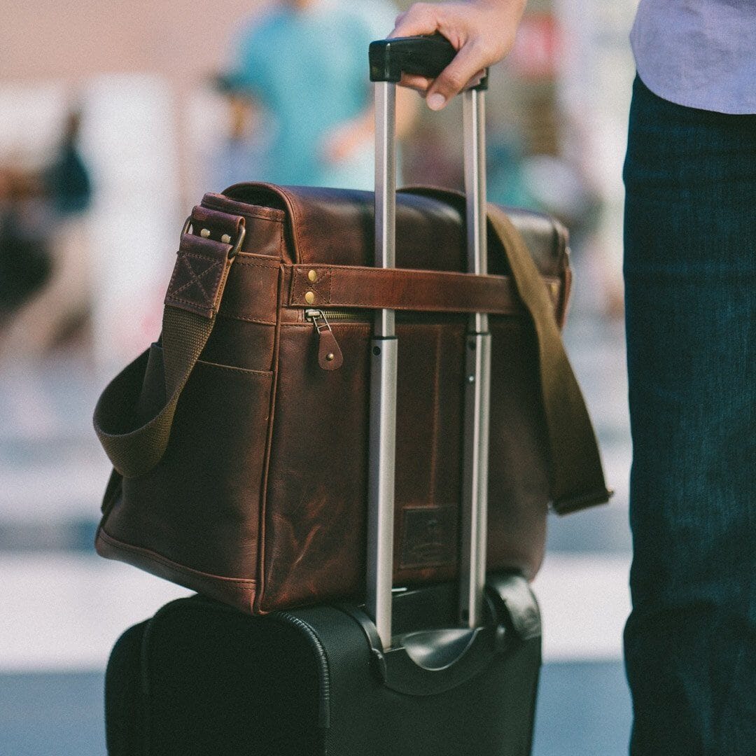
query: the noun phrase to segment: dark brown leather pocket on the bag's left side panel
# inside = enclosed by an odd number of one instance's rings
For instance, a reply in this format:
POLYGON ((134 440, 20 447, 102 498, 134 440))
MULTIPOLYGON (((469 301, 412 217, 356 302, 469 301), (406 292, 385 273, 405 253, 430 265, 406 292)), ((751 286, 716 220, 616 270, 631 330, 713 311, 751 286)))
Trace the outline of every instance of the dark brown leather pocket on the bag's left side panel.
MULTIPOLYGON (((270 371, 197 362, 166 454, 150 472, 124 479, 104 521, 104 534, 133 551, 117 558, 163 575, 170 562, 185 572, 171 579, 203 592, 192 573, 256 579, 272 379, 270 371), (144 563, 150 559, 160 571, 144 563)), ((162 349, 153 344, 138 414, 160 405, 163 382, 162 349)))

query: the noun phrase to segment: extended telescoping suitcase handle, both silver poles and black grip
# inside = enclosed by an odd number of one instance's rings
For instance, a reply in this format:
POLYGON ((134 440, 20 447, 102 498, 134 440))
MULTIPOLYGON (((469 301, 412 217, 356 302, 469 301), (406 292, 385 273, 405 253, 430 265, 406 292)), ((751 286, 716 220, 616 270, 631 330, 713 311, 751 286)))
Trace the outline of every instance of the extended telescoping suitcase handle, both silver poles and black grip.
MULTIPOLYGON (((456 51, 440 35, 384 39, 370 45, 375 82, 376 268, 395 267, 396 82, 401 74, 435 77, 456 51)), ((485 79, 463 93, 468 272, 485 274, 485 79)), ((371 342, 370 469, 368 491, 367 613, 383 649, 392 646, 392 572, 396 440, 397 342, 393 310, 376 312, 371 342)), ((485 313, 470 317, 466 336, 460 625, 481 622, 485 584, 488 415, 491 336, 485 313)))

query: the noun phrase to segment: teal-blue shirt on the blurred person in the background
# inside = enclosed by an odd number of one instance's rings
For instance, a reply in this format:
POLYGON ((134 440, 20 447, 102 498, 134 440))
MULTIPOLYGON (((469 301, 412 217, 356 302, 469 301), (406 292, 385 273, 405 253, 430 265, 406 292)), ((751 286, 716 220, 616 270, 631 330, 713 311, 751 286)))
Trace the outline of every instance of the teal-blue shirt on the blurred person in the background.
POLYGON ((394 26, 396 10, 376 0, 318 0, 280 7, 243 31, 231 79, 267 111, 265 162, 256 181, 370 189, 373 145, 330 163, 324 141, 372 103, 367 48, 394 26))

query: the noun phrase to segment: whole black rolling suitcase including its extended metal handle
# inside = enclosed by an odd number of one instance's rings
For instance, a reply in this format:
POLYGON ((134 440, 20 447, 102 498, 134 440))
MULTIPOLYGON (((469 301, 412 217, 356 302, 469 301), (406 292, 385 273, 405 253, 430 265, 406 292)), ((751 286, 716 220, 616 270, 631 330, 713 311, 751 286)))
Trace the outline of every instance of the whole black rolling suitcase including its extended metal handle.
MULTIPOLYGON (((380 79, 382 45, 374 45, 371 78, 380 79)), ((383 45, 383 64, 385 54, 383 45)), ((376 266, 384 268, 393 266, 390 69, 383 65, 389 81, 376 84, 376 266)), ((483 92, 463 98, 469 265, 485 273, 483 92)), ((467 339, 472 380, 465 389, 460 581, 392 589, 396 339, 393 312, 380 311, 371 347, 366 605, 252 617, 200 596, 169 603, 113 649, 106 677, 110 756, 530 753, 541 665, 538 606, 520 575, 485 575, 485 314, 470 318, 467 339)))

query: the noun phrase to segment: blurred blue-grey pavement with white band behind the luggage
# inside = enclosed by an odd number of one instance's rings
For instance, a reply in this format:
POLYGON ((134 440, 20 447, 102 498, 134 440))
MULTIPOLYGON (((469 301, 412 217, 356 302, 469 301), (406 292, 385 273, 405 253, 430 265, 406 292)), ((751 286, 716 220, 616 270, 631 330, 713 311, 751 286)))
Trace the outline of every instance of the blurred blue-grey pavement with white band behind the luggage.
MULTIPOLYGON (((624 334, 599 317, 590 270, 578 265, 577 272, 565 342, 617 494, 609 507, 550 521, 534 585, 545 662, 534 756, 620 756, 630 728, 621 665, 631 457, 624 334)), ((104 754, 101 687, 110 646, 129 624, 185 593, 92 553, 108 466, 90 417, 103 385, 73 357, 0 376, 4 756, 104 754)))

